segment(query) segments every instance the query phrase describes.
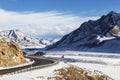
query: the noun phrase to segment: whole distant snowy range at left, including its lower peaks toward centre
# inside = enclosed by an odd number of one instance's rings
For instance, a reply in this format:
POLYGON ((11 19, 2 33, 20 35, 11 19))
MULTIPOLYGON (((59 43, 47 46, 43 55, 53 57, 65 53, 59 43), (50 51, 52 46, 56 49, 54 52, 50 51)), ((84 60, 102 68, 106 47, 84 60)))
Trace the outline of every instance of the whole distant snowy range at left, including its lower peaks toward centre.
POLYGON ((19 29, 0 31, 0 39, 18 44, 21 48, 44 48, 59 39, 37 39, 29 36, 19 29))

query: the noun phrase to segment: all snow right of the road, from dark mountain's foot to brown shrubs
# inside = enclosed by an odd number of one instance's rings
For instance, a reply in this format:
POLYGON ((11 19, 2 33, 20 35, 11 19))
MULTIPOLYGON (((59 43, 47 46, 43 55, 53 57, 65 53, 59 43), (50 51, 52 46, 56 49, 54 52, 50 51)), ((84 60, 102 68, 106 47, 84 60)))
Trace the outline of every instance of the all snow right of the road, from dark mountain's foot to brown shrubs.
POLYGON ((115 80, 120 80, 120 54, 95 53, 95 52, 91 53, 91 52, 77 52, 77 51, 61 51, 61 52, 54 51, 54 52, 48 52, 46 57, 61 58, 62 55, 64 55, 64 58, 66 59, 69 58, 69 59, 84 61, 84 62, 68 61, 68 63, 70 64, 73 64, 82 68, 90 69, 90 70, 99 70, 109 75, 115 80), (112 56, 112 57, 109 57, 109 56, 112 56), (99 62, 99 64, 94 62, 99 62), (106 63, 106 64, 102 64, 102 63, 106 63))

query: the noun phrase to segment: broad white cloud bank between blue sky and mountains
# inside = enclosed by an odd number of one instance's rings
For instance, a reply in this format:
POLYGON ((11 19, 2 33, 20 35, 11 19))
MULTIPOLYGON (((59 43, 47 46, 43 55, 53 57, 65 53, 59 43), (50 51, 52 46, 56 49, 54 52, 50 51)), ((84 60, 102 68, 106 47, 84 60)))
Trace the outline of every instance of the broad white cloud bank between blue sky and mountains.
POLYGON ((71 14, 48 12, 12 12, 0 9, 0 30, 20 29, 35 35, 64 35, 81 23, 98 17, 80 17, 71 14))

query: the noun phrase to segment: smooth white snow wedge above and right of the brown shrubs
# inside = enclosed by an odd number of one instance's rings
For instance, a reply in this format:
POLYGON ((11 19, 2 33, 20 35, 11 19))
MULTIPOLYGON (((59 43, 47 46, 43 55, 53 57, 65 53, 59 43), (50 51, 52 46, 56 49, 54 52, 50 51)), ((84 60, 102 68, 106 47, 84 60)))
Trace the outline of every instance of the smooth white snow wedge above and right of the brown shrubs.
POLYGON ((99 70, 104 74, 109 75, 115 80, 120 80, 120 66, 101 65, 101 64, 90 64, 90 63, 71 63, 73 65, 87 68, 90 70, 99 70))

